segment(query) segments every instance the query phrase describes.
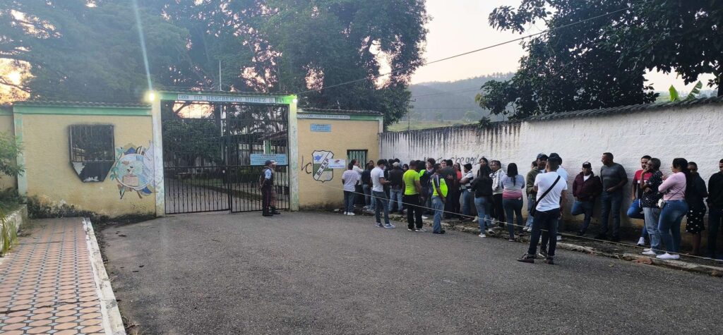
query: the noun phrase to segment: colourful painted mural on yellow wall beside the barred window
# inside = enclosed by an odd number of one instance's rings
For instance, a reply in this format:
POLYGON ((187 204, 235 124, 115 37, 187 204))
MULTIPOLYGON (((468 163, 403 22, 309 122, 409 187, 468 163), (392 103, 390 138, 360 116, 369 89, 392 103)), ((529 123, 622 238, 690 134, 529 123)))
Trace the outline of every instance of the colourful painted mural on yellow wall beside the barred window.
POLYGON ((111 180, 118 183, 121 199, 127 191, 135 191, 139 198, 150 196, 153 193, 153 146, 144 148, 128 144, 116 148, 111 180))

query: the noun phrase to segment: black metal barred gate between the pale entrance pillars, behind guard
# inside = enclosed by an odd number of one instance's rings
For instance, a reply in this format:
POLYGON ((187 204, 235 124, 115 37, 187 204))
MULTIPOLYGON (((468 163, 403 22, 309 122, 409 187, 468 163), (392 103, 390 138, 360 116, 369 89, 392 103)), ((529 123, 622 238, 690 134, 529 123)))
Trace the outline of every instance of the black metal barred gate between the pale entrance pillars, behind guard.
MULTIPOLYGON (((262 209, 254 154, 288 157, 287 105, 163 105, 166 214, 262 209), (193 117, 200 116, 200 117, 193 117)), ((275 170, 278 209, 289 208, 288 165, 275 170)))

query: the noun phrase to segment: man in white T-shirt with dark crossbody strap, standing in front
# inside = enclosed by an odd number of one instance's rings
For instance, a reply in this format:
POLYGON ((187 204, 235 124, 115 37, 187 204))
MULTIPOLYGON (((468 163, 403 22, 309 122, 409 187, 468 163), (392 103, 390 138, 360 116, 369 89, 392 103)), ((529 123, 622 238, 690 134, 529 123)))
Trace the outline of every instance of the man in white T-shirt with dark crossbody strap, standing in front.
MULTIPOLYGON (((537 192, 536 212, 532 224, 532 237, 530 238, 530 247, 518 261, 524 263, 534 263, 537 258, 537 243, 542 235, 542 230, 548 232, 549 248, 544 250, 541 248, 540 254, 544 256, 544 263, 555 264, 552 260, 555 257, 555 248, 557 240, 557 222, 560 219, 561 206, 565 206, 568 183, 562 180, 562 176, 557 174, 560 167, 559 157, 549 157, 547 160, 546 173, 540 173, 535 177, 534 188, 537 192)), ((543 240, 542 243, 545 241, 543 240)))

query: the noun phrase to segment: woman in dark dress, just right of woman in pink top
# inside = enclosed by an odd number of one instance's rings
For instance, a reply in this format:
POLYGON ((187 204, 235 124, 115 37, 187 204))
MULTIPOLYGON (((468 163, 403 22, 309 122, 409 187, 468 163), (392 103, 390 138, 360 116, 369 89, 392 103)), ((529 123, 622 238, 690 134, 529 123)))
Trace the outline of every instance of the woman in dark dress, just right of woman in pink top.
POLYGON ((688 192, 685 193, 685 201, 688 202, 688 214, 685 218, 685 231, 693 234, 693 255, 701 255, 701 232, 706 229, 703 225, 703 217, 706 216, 706 204, 703 199, 708 197, 706 182, 698 174, 698 164, 688 162, 691 184, 688 192))

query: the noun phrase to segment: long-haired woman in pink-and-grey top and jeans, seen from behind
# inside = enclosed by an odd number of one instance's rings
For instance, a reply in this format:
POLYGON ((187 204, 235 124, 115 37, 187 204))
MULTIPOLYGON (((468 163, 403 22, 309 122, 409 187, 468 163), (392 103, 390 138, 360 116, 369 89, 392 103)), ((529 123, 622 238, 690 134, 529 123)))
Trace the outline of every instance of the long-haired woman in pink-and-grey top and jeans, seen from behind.
POLYGON ((517 227, 520 233, 524 226, 522 218, 522 188, 525 187, 525 178, 517 171, 517 164, 507 165, 507 174, 502 175, 502 208, 507 216, 507 230, 510 232, 510 242, 515 242, 515 225, 513 225, 513 214, 517 217, 517 227))

